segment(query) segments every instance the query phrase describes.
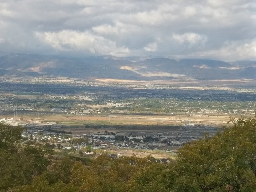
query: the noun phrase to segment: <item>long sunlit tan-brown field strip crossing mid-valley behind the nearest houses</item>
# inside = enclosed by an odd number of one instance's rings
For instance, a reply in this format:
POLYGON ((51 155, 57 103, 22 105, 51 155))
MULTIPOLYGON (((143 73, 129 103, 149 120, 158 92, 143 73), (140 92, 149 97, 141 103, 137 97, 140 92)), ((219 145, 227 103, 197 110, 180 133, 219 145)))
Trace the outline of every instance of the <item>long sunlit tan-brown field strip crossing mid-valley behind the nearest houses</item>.
MULTIPOLYGON (((2 116, 4 118, 6 116, 2 116)), ((13 117, 13 116, 7 116, 13 117)), ((23 115, 23 120, 42 122, 60 122, 60 124, 171 124, 182 125, 188 123, 208 124, 208 125, 225 125, 229 120, 229 115, 224 116, 188 116, 188 115, 172 115, 172 116, 145 116, 145 115, 110 115, 110 116, 71 116, 71 115, 23 115)))

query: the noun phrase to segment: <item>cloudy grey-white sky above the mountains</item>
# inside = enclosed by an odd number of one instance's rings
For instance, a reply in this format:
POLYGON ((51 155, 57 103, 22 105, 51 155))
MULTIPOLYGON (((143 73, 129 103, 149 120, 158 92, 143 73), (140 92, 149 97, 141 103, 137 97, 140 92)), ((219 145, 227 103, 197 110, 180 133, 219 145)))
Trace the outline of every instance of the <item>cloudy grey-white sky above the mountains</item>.
POLYGON ((1 0, 0 53, 256 60, 256 1, 1 0))

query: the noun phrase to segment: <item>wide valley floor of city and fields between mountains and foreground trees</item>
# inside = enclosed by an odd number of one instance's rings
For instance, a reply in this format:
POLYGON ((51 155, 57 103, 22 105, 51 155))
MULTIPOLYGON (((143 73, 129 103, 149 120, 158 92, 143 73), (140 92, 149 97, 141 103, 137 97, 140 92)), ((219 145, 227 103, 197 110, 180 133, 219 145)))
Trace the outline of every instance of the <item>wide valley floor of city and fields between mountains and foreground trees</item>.
POLYGON ((255 115, 255 81, 199 83, 2 78, 1 121, 56 150, 175 158, 185 143, 230 126, 230 116, 255 115))

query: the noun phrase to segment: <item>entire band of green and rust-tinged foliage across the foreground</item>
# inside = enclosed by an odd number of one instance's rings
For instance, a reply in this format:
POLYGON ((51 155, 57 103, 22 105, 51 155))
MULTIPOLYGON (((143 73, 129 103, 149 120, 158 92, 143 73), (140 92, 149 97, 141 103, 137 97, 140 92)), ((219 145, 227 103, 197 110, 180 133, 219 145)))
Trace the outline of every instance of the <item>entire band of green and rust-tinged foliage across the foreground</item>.
POLYGON ((256 118, 230 120, 213 138, 186 144, 170 164, 152 157, 113 159, 101 155, 88 164, 52 158, 42 146, 20 146, 22 130, 0 124, 0 191, 12 192, 250 192, 256 190, 256 118))

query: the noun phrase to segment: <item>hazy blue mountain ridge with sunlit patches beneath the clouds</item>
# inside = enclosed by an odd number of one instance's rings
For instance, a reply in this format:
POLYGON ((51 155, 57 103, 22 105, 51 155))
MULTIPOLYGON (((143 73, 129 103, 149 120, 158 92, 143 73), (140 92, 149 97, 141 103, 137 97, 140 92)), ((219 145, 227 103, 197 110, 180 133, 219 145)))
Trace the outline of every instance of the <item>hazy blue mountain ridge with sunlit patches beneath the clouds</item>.
POLYGON ((255 61, 168 58, 126 60, 111 56, 64 58, 10 54, 0 57, 0 76, 66 76, 121 79, 256 79, 255 61))

